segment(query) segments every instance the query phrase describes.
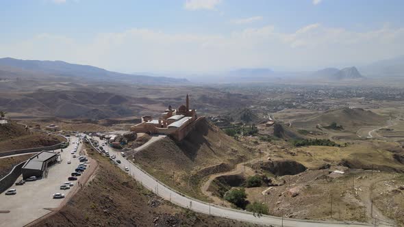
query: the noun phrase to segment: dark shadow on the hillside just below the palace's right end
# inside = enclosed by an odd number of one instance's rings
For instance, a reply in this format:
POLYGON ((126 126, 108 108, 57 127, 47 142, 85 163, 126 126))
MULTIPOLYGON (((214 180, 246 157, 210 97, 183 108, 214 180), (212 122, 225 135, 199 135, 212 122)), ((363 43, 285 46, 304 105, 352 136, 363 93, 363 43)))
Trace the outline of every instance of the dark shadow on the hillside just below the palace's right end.
POLYGON ((201 120, 195 125, 194 131, 188 133, 188 135, 181 142, 179 142, 179 148, 182 152, 184 152, 184 155, 186 155, 188 159, 194 161, 198 155, 199 149, 201 146, 203 146, 203 144, 214 152, 212 149, 212 144, 205 139, 205 136, 208 135, 209 131, 214 131, 214 129, 206 120, 201 120))

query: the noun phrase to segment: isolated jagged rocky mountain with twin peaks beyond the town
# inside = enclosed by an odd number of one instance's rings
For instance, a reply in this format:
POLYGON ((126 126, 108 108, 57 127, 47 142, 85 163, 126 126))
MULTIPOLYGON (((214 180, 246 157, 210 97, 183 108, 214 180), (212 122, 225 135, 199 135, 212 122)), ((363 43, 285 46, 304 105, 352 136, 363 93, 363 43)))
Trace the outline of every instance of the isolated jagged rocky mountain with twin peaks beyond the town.
POLYGON ((329 79, 336 81, 364 79, 364 76, 360 74, 355 66, 342 68, 341 70, 338 68, 325 68, 323 70, 314 72, 311 76, 318 79, 329 79))

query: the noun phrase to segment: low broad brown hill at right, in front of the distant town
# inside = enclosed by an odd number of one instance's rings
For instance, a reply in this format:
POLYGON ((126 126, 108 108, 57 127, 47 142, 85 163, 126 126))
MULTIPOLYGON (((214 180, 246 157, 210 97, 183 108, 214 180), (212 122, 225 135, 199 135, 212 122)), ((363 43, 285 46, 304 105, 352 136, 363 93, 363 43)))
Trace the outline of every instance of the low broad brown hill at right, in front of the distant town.
POLYGON ((342 109, 326 111, 323 114, 306 120, 293 122, 293 125, 298 128, 314 128, 318 124, 321 126, 329 126, 333 122, 336 122, 344 129, 356 129, 360 126, 380 125, 386 120, 388 120, 386 116, 375 114, 369 110, 344 107, 342 109))

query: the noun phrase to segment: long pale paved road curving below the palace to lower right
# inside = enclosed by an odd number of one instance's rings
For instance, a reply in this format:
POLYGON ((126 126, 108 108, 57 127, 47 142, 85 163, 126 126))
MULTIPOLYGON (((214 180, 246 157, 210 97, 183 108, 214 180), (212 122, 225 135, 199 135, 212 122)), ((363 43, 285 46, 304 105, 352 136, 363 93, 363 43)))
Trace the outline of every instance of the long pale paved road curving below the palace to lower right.
MULTIPOLYGON (((98 138, 94 137, 94 139, 98 138)), ((136 181, 142 183, 144 187, 153 191, 158 196, 166 200, 170 200, 171 202, 179 206, 191 209, 192 211, 262 225, 281 226, 283 224, 283 226, 302 226, 302 227, 316 227, 316 226, 333 227, 333 226, 348 226, 348 225, 371 226, 370 224, 349 224, 344 222, 316 222, 303 219, 281 219, 281 217, 274 217, 269 215, 264 215, 262 217, 254 217, 253 213, 244 212, 236 209, 228 209, 222 206, 216 206, 216 205, 213 206, 206 202, 201 202, 199 200, 183 196, 181 195, 181 193, 178 193, 175 190, 170 189, 165 185, 162 185, 162 183, 159 183, 157 180, 155 180, 153 176, 147 174, 146 172, 143 172, 137 165, 129 162, 127 159, 122 157, 121 152, 119 152, 118 150, 114 150, 112 148, 110 148, 109 150, 110 155, 114 154, 116 155, 116 159, 121 160, 121 164, 119 164, 118 167, 123 169, 124 171, 125 167, 129 168, 128 174, 131 174, 131 176, 134 177, 136 181)))

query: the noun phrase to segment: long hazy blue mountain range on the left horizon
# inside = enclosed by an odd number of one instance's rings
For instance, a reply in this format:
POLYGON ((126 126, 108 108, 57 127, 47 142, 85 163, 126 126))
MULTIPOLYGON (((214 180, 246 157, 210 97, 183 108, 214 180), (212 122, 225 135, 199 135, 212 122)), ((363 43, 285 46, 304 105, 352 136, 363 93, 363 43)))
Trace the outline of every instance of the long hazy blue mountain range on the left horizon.
POLYGON ((90 81, 116 81, 140 84, 176 84, 188 83, 187 79, 171 77, 151 77, 147 75, 130 75, 112 72, 103 68, 70 64, 62 61, 22 60, 10 57, 0 58, 0 77, 25 77, 30 72, 31 77, 75 77, 90 81), (33 74, 32 74, 33 73, 33 74))

